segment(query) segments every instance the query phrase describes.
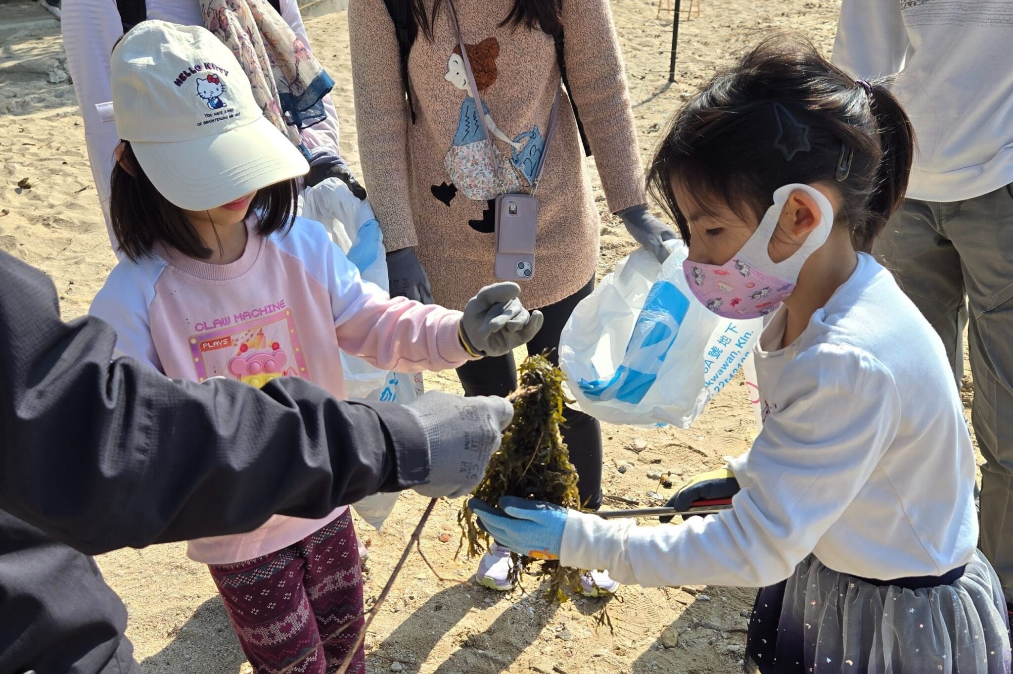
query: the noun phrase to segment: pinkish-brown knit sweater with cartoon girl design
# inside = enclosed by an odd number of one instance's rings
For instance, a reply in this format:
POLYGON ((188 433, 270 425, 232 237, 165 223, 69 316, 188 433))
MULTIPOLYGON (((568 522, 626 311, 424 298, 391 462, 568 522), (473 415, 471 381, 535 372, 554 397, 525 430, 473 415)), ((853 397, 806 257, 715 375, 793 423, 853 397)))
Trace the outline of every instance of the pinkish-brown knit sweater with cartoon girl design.
MULTIPOLYGON (((431 9, 433 0, 425 0, 431 9)), ((506 191, 527 191, 559 85, 553 39, 501 27, 514 0, 455 0, 475 77, 491 118, 506 191)), ((608 0, 567 0, 562 23, 570 95, 577 103, 615 213, 645 203, 642 168, 608 0)), ((494 281, 491 181, 477 106, 462 76, 446 1, 435 40, 419 31, 408 66, 415 124, 401 85, 397 41, 384 0, 350 0, 348 31, 357 128, 370 201, 388 250, 415 246, 437 302, 461 308, 494 281), (483 165, 483 158, 485 164, 483 165)), ((536 275, 526 306, 579 290, 595 273, 601 222, 579 135, 563 97, 539 185, 536 275)))

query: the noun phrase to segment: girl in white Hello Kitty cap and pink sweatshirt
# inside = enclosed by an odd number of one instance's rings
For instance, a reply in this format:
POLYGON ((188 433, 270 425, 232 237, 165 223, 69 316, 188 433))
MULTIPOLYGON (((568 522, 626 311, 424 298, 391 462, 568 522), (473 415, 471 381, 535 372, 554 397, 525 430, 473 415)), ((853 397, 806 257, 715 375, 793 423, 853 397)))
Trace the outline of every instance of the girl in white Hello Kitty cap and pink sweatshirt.
MULTIPOLYGON (((110 218, 127 259, 92 313, 124 354, 172 378, 297 376, 343 397, 339 349, 385 370, 445 369, 509 353, 541 326, 513 284, 483 289, 461 313, 364 283, 322 225, 293 218, 307 161, 208 30, 146 21, 113 50, 111 73, 124 142, 110 218)), ((428 416, 418 415, 423 431, 428 416)), ((363 590, 346 508, 275 516, 247 534, 192 540, 188 554, 210 566, 258 674, 297 661, 322 674, 345 657, 365 671, 362 650, 349 654, 363 590)))

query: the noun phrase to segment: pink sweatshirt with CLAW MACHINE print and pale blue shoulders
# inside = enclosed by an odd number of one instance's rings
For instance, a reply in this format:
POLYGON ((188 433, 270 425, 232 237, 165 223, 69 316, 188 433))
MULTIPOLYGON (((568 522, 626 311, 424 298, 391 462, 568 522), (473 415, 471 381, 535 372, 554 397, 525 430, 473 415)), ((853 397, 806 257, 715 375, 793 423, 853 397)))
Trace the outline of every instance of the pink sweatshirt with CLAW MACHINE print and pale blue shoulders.
MULTIPOLYGON (((305 377, 343 398, 339 349, 400 372, 468 360, 459 312, 391 299, 359 277, 323 225, 304 218, 284 236, 251 232, 230 265, 165 248, 140 263, 125 259, 91 313, 115 328, 118 351, 174 379, 224 376, 259 387, 305 377)), ((305 538, 340 512, 320 520, 275 515, 249 533, 191 540, 187 554, 205 564, 245 561, 305 538)))

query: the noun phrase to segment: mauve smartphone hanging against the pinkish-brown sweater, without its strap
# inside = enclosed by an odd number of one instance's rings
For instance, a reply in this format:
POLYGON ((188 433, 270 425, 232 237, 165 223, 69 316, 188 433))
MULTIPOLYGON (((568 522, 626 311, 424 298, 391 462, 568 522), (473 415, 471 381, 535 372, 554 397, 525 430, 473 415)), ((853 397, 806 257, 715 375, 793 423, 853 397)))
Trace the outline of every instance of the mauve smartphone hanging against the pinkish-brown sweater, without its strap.
POLYGON ((496 257, 493 274, 503 281, 527 281, 535 276, 538 238, 538 199, 531 195, 496 198, 496 257))

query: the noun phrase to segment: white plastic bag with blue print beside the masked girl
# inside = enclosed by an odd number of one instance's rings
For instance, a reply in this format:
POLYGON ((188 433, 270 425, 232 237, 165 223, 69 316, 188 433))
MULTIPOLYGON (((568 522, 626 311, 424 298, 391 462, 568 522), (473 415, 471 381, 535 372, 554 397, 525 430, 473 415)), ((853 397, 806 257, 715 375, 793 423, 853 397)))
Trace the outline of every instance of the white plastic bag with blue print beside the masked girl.
POLYGON ((573 310, 559 344, 576 407, 612 424, 688 428, 742 367, 761 319, 708 311, 686 285, 686 246, 637 249, 573 310))

